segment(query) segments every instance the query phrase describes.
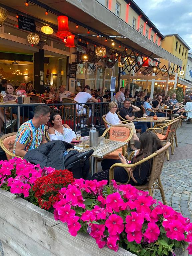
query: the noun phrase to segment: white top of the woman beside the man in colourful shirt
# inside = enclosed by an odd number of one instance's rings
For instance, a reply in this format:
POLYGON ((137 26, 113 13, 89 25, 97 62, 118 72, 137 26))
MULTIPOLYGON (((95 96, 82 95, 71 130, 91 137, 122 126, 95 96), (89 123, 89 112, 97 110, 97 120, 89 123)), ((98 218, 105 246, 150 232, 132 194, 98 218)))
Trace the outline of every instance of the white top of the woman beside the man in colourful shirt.
POLYGON ((76 138, 75 132, 69 128, 65 128, 64 126, 63 126, 63 133, 60 133, 56 130, 54 131, 55 131, 55 134, 50 134, 48 132, 50 140, 62 140, 70 143, 73 138, 76 138))

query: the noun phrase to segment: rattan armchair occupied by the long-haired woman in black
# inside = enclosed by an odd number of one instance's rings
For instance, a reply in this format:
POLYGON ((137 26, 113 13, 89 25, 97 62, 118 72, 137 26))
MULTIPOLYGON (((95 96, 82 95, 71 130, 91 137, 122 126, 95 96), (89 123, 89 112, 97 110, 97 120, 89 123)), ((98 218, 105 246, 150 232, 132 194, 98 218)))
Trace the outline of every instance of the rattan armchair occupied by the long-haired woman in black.
MULTIPOLYGON (((152 164, 152 169, 151 169, 151 173, 150 173, 150 177, 148 179, 147 184, 145 185, 137 185, 135 186, 137 189, 139 190, 148 190, 149 191, 149 195, 153 196, 154 193, 154 189, 159 189, 160 193, 161 193, 161 198, 164 204, 167 204, 166 202, 166 198, 165 198, 165 194, 164 194, 164 190, 163 190, 163 185, 161 182, 161 172, 163 169, 163 164, 165 161, 165 157, 167 155, 168 152, 168 148, 171 146, 170 142, 167 142, 161 149, 155 151, 152 155, 142 159, 141 161, 134 163, 134 164, 114 164, 111 166, 110 170, 109 170, 109 181, 114 179, 114 168, 115 167, 123 167, 126 171, 126 168, 133 168, 137 165, 142 164, 143 162, 153 158, 153 164, 152 164)), ((129 175, 129 172, 127 172, 129 175)), ((130 176, 128 179, 129 183, 130 181, 130 176)), ((119 182, 117 182, 118 184, 120 184, 119 182)), ((125 183, 125 184, 127 184, 125 183)))

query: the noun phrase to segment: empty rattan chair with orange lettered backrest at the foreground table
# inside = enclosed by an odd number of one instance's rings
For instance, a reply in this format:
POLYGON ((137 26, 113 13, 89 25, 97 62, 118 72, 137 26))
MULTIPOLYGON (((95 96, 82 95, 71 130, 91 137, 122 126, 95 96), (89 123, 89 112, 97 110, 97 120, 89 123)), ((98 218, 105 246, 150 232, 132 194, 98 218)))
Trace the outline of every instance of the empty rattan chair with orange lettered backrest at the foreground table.
MULTIPOLYGON (((133 136, 133 129, 131 127, 127 127, 124 124, 119 124, 119 125, 113 125, 107 128, 101 137, 105 137, 106 139, 115 140, 115 141, 129 142, 132 136, 133 136)), ((114 152, 106 155, 104 158, 119 159, 119 153, 125 156, 127 153, 127 144, 123 148, 119 148, 114 152)), ((97 172, 97 163, 100 161, 102 161, 101 158, 95 159, 96 172, 97 172)))

